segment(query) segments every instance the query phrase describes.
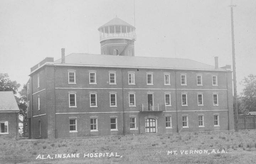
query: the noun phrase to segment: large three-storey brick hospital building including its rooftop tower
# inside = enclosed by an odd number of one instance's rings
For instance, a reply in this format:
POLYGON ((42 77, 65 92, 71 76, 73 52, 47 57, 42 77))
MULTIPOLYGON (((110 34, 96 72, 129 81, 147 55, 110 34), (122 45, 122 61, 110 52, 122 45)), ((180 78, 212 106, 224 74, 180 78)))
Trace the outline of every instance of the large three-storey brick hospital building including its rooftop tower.
POLYGON ((230 65, 134 56, 135 27, 101 26, 101 55, 46 58, 28 81, 30 137, 233 130, 230 65))

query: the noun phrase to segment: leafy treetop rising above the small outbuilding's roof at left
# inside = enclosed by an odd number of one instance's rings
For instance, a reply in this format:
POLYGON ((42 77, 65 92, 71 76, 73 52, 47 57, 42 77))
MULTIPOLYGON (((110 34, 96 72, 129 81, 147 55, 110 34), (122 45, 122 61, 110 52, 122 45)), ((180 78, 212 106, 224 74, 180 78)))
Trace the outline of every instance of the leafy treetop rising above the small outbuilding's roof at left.
POLYGON ((13 91, 17 93, 20 84, 16 81, 11 81, 7 73, 0 73, 0 91, 13 91))

